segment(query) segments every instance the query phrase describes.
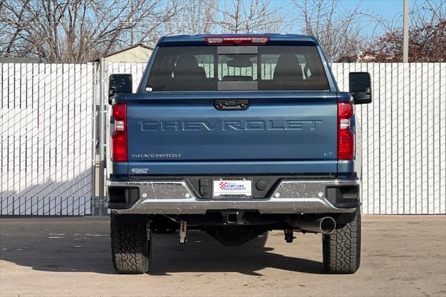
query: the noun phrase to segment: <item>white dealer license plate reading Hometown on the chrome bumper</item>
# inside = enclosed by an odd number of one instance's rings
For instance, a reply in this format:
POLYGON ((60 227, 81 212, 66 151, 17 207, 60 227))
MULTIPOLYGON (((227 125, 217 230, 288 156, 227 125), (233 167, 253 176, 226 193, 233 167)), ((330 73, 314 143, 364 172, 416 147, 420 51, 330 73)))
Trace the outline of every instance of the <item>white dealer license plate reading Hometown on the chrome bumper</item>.
POLYGON ((214 198, 252 197, 252 180, 250 179, 215 179, 213 181, 214 198))

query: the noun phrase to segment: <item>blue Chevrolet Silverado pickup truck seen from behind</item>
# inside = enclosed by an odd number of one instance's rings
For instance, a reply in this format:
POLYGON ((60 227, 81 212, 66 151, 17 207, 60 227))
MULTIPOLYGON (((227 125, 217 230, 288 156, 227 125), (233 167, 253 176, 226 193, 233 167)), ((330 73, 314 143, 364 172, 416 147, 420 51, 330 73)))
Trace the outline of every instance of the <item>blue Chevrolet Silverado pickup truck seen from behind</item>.
POLYGON ((241 245, 270 230, 322 234, 328 273, 360 266, 361 141, 355 104, 312 36, 161 38, 136 93, 111 75, 107 181, 118 273, 147 273, 153 234, 206 231, 241 245))

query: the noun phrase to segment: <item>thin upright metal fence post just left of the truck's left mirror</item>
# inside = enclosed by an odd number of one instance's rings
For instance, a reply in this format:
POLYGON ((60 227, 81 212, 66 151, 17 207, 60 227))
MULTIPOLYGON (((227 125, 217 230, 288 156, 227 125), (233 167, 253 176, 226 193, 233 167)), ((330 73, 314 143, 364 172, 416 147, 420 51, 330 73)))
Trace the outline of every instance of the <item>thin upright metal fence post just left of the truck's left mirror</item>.
POLYGON ((104 163, 105 163, 105 65, 104 58, 99 60, 100 80, 99 80, 99 215, 102 215, 102 202, 104 201, 104 163))

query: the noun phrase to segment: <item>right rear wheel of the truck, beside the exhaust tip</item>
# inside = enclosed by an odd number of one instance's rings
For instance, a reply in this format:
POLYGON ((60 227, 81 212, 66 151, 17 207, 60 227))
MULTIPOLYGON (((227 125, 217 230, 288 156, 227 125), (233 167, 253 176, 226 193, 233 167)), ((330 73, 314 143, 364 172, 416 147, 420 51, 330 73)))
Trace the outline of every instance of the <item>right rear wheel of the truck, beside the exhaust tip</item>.
POLYGON ((351 274, 360 268, 361 259, 361 213, 356 211, 352 222, 336 229, 332 234, 323 234, 323 267, 328 273, 351 274))

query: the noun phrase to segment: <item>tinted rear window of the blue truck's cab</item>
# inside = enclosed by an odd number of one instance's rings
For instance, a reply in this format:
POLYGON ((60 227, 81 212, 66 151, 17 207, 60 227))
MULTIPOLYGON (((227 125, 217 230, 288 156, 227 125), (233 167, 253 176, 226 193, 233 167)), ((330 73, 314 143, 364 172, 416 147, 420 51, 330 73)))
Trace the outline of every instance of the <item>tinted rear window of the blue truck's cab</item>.
POLYGON ((329 90, 314 46, 160 47, 148 91, 329 90))

